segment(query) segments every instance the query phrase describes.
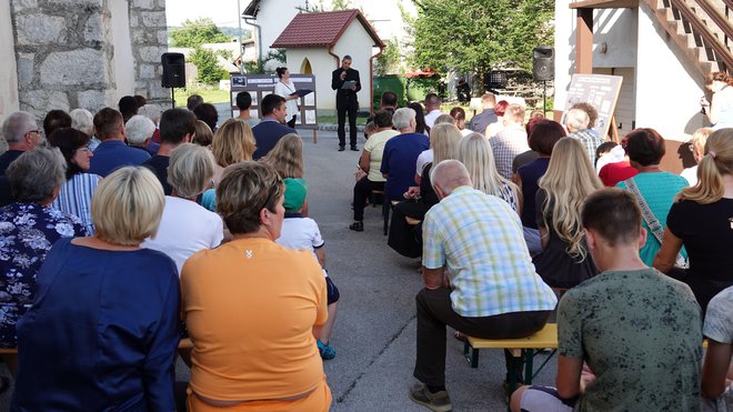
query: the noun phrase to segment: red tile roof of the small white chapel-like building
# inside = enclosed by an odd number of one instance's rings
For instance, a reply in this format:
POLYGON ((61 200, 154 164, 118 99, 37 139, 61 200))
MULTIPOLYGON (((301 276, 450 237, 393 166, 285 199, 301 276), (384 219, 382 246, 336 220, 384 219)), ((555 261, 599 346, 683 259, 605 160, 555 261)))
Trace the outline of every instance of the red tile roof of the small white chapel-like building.
POLYGON ((359 10, 299 13, 270 46, 273 49, 331 47, 357 19, 374 40, 374 46, 384 47, 372 26, 359 10))

